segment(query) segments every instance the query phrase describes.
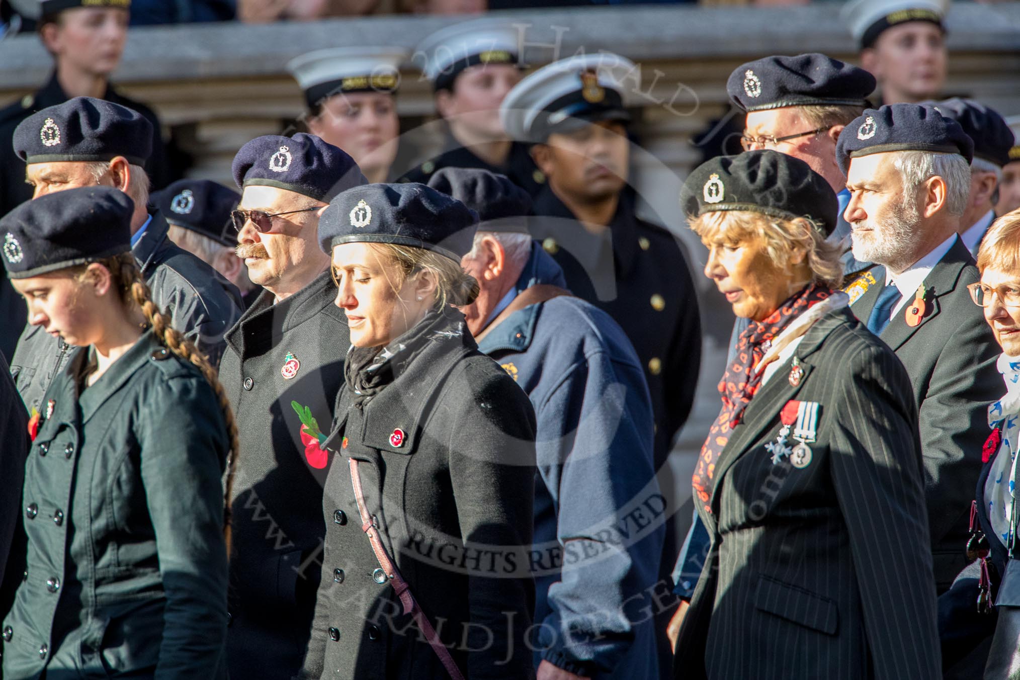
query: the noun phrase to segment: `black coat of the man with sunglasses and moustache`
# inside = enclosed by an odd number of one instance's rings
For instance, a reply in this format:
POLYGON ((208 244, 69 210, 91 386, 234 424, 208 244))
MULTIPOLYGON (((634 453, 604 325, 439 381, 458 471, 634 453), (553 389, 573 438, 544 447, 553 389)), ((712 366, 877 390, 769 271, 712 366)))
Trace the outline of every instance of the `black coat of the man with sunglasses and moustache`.
POLYGON ((219 379, 237 414, 241 446, 227 631, 235 678, 286 680, 301 668, 308 643, 328 468, 306 457, 291 402, 308 407, 328 429, 350 347, 336 297, 328 271, 275 305, 263 292, 226 334, 219 379), (290 378, 284 375, 289 355, 299 362, 290 378))

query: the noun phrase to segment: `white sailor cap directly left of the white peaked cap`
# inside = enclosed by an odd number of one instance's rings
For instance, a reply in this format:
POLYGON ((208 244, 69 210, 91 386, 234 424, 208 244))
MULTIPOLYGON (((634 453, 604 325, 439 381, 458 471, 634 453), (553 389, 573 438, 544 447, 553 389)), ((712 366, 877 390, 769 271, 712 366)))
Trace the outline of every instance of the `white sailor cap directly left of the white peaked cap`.
POLYGON ((509 21, 483 18, 447 27, 421 41, 412 60, 421 64, 437 91, 447 90, 462 70, 476 64, 518 65, 520 32, 509 21))

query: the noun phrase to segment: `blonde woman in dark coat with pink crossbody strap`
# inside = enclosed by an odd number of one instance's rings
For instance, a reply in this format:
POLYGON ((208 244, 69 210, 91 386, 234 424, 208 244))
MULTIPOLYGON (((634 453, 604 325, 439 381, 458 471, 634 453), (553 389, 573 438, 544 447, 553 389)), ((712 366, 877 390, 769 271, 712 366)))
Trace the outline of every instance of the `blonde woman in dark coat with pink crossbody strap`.
POLYGON ((323 209, 351 349, 332 432, 302 427, 335 458, 303 678, 533 676, 534 412, 453 307, 476 221, 417 184, 323 209))

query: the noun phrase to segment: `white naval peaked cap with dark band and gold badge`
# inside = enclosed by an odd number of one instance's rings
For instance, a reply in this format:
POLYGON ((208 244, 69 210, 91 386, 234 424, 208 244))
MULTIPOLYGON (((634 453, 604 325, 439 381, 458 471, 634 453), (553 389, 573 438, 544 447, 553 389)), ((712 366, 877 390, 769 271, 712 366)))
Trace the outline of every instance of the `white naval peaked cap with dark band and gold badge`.
POLYGON ((641 86, 641 71, 612 52, 581 54, 543 66, 507 93, 500 106, 512 139, 544 142, 549 135, 598 120, 629 120, 626 93, 641 86))

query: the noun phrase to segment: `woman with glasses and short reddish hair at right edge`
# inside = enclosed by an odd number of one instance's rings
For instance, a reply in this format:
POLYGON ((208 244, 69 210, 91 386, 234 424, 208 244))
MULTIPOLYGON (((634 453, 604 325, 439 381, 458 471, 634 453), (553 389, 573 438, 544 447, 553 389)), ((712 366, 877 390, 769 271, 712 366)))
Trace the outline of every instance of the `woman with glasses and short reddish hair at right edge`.
POLYGON ((1018 509, 1011 486, 1017 481, 1020 441, 1018 243, 1020 210, 1000 217, 988 228, 977 255, 981 280, 967 285, 1002 348, 996 367, 1005 383, 999 394, 1005 386, 1005 396, 987 406, 987 425, 977 427, 987 438, 980 451, 983 465, 968 523, 967 559, 971 563, 938 597, 947 678, 1014 677, 1001 670, 1020 661, 1020 599, 1013 594, 1016 583, 1003 587, 1008 565, 1020 558, 1020 551, 1010 550, 1017 528, 1018 509))

